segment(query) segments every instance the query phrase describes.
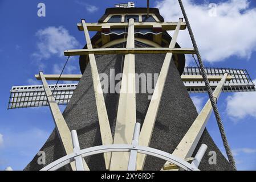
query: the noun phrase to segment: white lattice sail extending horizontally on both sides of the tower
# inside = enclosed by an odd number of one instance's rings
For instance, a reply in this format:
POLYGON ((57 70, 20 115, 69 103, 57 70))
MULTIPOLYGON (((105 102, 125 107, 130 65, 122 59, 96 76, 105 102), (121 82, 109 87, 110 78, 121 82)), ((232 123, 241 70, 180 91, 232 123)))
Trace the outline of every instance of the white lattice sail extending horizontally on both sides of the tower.
MULTIPOLYGON (((232 76, 230 81, 226 81, 223 92, 254 92, 255 85, 251 80, 246 69, 230 69, 230 68, 205 68, 209 76, 223 76, 229 73, 232 76)), ((197 67, 185 67, 185 76, 200 76, 200 70, 197 67)), ((183 76, 182 75, 182 76, 183 76)), ((181 76, 181 78, 182 78, 181 76)), ((189 77, 188 77, 189 78, 189 77)), ((189 93, 206 93, 204 81, 187 81, 182 79, 189 93)), ((214 90, 219 81, 210 81, 210 85, 214 90)), ((49 85, 54 90, 55 85, 49 85)), ((53 96, 57 104, 66 105, 70 101, 77 84, 58 84, 53 96)), ((23 107, 39 107, 48 106, 47 98, 44 93, 43 85, 26 85, 13 86, 10 90, 10 101, 8 109, 17 109, 23 107)))

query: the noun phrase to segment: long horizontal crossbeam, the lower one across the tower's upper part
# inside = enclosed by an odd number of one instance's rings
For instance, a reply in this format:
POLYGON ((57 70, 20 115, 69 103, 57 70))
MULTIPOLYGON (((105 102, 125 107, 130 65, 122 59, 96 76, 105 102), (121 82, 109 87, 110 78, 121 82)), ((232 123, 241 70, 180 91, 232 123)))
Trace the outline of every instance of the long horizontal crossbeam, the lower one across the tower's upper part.
POLYGON ((72 49, 64 51, 65 56, 79 56, 94 53, 95 55, 115 55, 128 53, 175 53, 194 54, 193 48, 97 48, 97 49, 72 49))

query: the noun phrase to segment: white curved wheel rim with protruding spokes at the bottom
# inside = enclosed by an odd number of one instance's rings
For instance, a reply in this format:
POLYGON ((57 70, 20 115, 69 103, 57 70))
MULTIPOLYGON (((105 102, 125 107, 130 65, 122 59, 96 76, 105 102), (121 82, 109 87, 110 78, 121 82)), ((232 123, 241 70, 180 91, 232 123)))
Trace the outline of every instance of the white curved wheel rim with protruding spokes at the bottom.
POLYGON ((204 145, 198 151, 196 155, 196 163, 192 162, 192 164, 186 162, 185 160, 178 158, 175 155, 169 154, 168 152, 164 152, 161 150, 157 150, 151 147, 138 146, 139 134, 140 134, 140 123, 135 124, 135 130, 133 133, 132 144, 109 144, 109 145, 101 145, 90 148, 85 148, 80 150, 78 135, 75 130, 71 131, 72 133, 72 142, 74 146, 74 152, 72 154, 68 154, 63 156, 62 158, 55 160, 51 164, 48 164, 46 167, 42 168, 40 171, 55 171, 66 164, 75 161, 76 170, 84 171, 84 166, 82 163, 82 158, 90 155, 101 154, 105 152, 130 152, 128 170, 135 171, 136 163, 137 163, 137 153, 155 156, 156 158, 164 159, 176 166, 185 169, 186 171, 199 171, 197 168, 201 162, 202 156, 205 154, 207 146, 204 145))

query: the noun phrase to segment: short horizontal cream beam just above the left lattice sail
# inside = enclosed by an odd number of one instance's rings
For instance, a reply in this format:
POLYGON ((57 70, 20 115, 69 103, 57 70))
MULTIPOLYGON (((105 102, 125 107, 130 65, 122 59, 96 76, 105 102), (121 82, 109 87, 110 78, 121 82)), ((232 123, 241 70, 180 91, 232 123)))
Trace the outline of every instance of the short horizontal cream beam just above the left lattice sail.
MULTIPOLYGON (((44 75, 46 80, 58 80, 60 75, 44 75)), ((35 75, 36 80, 41 80, 40 75, 35 75)), ((62 81, 79 81, 82 75, 62 75, 59 80, 62 81)))

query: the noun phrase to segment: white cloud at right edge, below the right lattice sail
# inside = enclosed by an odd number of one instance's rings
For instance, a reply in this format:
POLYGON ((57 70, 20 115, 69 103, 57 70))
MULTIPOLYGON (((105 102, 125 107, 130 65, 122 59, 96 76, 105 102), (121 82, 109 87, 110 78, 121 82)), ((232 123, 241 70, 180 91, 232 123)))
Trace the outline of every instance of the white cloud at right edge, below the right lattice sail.
MULTIPOLYGON (((256 83, 256 80, 253 82, 256 83)), ((226 113, 233 121, 247 116, 256 118, 256 92, 234 93, 226 98, 226 102, 226 113)))

